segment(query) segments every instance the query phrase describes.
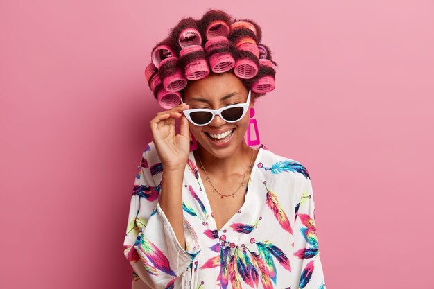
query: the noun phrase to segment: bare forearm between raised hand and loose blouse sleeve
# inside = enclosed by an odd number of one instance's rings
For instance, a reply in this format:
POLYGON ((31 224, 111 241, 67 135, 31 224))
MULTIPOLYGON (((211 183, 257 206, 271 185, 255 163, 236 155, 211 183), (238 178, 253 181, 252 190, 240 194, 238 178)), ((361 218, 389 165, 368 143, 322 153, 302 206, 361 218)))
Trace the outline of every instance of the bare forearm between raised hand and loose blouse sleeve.
POLYGON ((170 171, 163 170, 159 206, 164 211, 164 214, 166 214, 168 221, 171 223, 181 247, 185 248, 184 221, 182 216, 183 179, 183 169, 170 171))

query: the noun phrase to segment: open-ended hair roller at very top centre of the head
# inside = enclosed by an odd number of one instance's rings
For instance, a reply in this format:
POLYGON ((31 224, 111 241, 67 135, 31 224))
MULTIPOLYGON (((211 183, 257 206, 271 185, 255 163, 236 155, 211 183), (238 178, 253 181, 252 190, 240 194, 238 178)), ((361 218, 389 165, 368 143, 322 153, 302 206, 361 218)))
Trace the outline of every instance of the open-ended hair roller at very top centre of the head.
POLYGON ((208 10, 199 21, 200 33, 206 40, 229 35, 232 17, 221 10, 208 10))

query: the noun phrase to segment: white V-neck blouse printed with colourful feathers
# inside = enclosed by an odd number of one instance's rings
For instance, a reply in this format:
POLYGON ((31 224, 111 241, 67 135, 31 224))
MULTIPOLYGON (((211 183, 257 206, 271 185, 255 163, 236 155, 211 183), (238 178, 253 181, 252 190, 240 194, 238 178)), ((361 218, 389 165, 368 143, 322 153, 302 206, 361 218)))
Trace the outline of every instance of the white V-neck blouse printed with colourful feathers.
POLYGON ((162 170, 151 142, 137 166, 123 245, 132 289, 326 288, 302 164, 261 145, 245 202, 218 231, 190 152, 182 190, 186 249, 159 207, 162 170))

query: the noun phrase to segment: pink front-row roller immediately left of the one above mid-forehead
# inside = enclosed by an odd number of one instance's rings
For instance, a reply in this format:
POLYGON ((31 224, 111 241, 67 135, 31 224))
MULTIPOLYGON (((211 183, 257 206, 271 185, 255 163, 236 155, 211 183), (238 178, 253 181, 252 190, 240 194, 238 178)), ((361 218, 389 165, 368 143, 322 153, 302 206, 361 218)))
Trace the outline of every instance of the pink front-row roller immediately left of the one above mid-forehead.
POLYGON ((209 75, 205 51, 200 45, 188 46, 180 52, 179 66, 188 80, 198 80, 209 75))

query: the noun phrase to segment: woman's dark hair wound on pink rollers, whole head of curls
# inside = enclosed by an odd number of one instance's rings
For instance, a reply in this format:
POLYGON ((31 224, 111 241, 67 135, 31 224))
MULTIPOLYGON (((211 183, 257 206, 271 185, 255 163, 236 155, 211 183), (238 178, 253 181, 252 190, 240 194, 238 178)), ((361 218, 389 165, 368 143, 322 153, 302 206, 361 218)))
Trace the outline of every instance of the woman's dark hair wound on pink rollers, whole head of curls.
POLYGON ((234 73, 258 98, 275 88, 277 66, 261 39, 256 22, 210 9, 201 19, 182 18, 171 28, 168 37, 154 46, 145 76, 166 109, 180 103, 190 81, 210 73, 234 73))

